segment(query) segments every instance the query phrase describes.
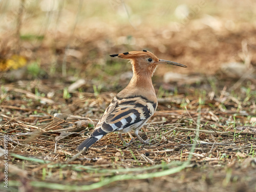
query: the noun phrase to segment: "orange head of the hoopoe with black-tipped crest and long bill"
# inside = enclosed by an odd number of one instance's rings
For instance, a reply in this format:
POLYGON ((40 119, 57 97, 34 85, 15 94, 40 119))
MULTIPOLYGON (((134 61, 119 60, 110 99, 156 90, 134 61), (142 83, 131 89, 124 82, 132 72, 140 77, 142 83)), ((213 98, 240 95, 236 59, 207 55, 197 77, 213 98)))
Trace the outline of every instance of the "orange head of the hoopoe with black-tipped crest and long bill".
POLYGON ((130 51, 126 53, 110 55, 111 57, 120 57, 122 59, 129 59, 133 65, 133 72, 137 75, 150 75, 152 76, 156 67, 159 64, 174 65, 187 68, 186 66, 169 60, 159 59, 153 53, 143 51, 130 51))

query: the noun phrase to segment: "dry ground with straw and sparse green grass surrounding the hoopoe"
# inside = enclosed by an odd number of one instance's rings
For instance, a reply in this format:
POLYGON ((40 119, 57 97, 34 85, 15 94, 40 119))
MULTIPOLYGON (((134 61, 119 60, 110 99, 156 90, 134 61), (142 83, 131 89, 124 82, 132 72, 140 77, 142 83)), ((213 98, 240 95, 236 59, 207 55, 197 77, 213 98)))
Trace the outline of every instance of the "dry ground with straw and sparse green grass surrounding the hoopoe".
POLYGON ((0 2, 2 191, 256 191, 254 1, 209 1, 188 20, 173 7, 199 2, 66 2, 48 13, 24 2, 0 2), (141 133, 151 145, 125 147, 113 133, 74 158, 131 77, 108 55, 142 49, 188 66, 153 77, 159 106, 141 133))

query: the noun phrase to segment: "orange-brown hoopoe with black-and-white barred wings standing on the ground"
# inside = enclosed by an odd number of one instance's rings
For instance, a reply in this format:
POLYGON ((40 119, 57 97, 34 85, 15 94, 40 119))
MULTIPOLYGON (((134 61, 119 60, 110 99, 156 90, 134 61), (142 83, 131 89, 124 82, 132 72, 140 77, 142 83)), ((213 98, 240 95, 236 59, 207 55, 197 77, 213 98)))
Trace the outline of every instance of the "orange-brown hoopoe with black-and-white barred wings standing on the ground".
POLYGON ((118 132, 118 136, 125 146, 129 146, 133 141, 131 131, 134 131, 142 143, 150 144, 148 140, 143 140, 139 136, 139 130, 154 115, 158 105, 152 76, 160 64, 187 68, 178 62, 159 59, 146 50, 110 56, 130 60, 133 77, 130 83, 113 98, 91 135, 77 146, 76 150, 79 152, 85 151, 104 135, 111 132, 118 132), (123 140, 122 133, 129 133, 131 137, 129 143, 123 140), (84 149, 84 147, 86 148, 84 149))

